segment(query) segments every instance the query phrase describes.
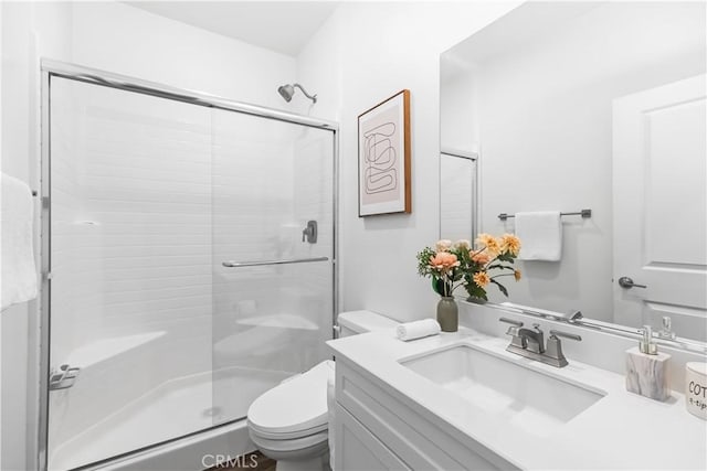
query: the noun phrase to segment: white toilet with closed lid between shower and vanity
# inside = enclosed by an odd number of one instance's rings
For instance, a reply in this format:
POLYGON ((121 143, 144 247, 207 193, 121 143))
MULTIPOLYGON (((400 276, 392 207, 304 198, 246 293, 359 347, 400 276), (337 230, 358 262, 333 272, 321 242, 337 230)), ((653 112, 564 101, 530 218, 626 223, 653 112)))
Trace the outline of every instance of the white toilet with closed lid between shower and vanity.
MULTIPOLYGON (((371 311, 341 312, 339 336, 394 329, 398 322, 371 311)), ((249 435, 277 471, 328 469, 329 410, 335 363, 326 360, 262 394, 247 410, 249 435)), ((333 443, 333 442, 331 442, 333 443)), ((331 450, 333 451, 333 450, 331 450)))

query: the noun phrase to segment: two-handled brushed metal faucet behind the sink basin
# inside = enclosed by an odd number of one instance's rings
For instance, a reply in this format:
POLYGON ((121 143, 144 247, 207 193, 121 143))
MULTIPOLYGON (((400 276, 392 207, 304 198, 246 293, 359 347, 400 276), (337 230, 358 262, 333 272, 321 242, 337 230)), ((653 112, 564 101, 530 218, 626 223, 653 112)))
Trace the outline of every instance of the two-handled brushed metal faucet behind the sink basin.
POLYGON ((562 331, 551 330, 548 338, 547 347, 545 345, 545 334, 540 330, 540 324, 532 324, 532 329, 523 328, 523 322, 513 319, 500 318, 500 322, 511 324, 506 331, 506 335, 510 335, 510 344, 506 347, 507 352, 515 353, 530 360, 547 365, 561 368, 568 365, 567 358, 562 353, 562 343, 559 338, 581 341, 580 335, 567 333, 562 331))

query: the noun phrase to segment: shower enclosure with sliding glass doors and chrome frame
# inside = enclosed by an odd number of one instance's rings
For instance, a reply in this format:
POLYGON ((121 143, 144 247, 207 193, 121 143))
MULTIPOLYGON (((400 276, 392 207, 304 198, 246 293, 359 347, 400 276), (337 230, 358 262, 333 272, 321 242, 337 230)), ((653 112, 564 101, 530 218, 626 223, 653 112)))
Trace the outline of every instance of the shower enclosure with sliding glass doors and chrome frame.
POLYGON ((336 126, 42 66, 40 465, 243 420, 326 357, 336 126))

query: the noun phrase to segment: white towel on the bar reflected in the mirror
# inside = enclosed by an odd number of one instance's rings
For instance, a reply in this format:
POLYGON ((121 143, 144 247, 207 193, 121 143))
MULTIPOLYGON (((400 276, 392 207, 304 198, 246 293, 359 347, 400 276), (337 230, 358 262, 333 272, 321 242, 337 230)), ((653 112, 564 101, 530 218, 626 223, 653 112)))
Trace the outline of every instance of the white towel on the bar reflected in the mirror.
POLYGON ((562 258, 562 220, 559 211, 516 213, 519 260, 558 261, 562 258))

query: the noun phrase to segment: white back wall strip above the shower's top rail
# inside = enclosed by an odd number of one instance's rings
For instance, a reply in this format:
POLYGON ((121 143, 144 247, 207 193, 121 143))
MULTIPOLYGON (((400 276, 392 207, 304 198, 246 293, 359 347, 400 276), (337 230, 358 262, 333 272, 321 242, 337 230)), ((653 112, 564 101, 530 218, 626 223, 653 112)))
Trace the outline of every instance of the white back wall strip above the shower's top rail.
POLYGON ((72 61, 110 72, 282 108, 277 87, 294 57, 119 2, 72 6, 72 61))

